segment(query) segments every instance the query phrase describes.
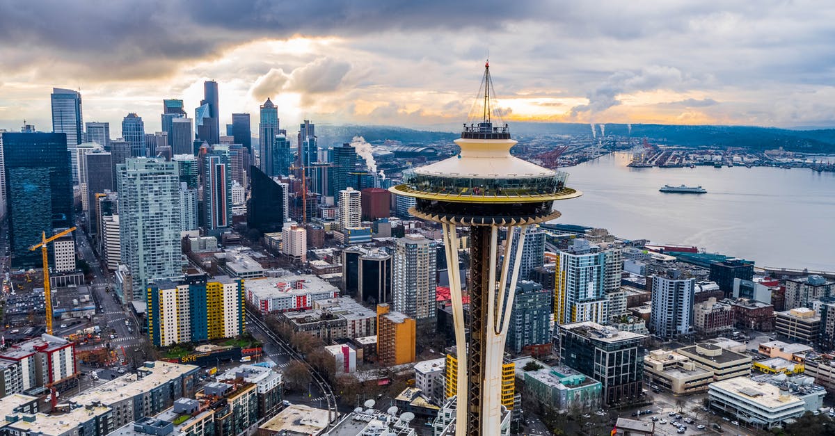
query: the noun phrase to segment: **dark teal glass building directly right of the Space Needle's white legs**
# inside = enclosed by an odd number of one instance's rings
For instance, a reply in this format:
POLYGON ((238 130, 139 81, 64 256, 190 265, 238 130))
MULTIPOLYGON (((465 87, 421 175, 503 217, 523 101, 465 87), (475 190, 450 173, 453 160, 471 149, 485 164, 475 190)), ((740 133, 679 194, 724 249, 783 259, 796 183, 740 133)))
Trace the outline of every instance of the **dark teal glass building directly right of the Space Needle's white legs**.
POLYGON ((534 281, 519 281, 516 285, 514 308, 508 324, 509 352, 522 352, 531 345, 550 344, 552 293, 534 281))

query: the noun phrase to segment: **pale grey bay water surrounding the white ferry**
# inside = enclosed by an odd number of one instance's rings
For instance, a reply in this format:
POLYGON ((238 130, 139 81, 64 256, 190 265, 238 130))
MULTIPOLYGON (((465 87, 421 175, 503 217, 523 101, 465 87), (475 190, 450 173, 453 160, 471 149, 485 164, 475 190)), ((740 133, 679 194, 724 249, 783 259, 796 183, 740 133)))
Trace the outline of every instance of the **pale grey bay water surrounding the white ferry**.
POLYGON ((628 153, 568 171, 583 191, 557 202, 556 222, 603 227, 655 244, 698 246, 757 266, 835 271, 835 173, 808 169, 697 166, 630 168, 628 153), (707 194, 665 194, 663 185, 707 194))

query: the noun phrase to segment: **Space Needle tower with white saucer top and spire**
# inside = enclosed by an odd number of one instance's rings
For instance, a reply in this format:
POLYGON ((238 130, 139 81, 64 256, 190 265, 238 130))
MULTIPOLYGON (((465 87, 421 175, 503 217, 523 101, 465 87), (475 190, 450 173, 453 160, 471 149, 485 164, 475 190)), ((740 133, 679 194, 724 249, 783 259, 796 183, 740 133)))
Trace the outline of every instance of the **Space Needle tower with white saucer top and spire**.
MULTIPOLYGON (((497 434, 502 416, 502 358, 513 308, 519 262, 528 226, 558 218, 555 200, 582 195, 565 186, 567 173, 510 155, 516 141, 507 124, 494 126, 493 83, 484 64, 480 122, 464 124, 455 143, 461 153, 403 173, 392 193, 415 198, 409 211, 443 226, 458 349, 457 436, 497 434), (458 268, 458 226, 470 233, 470 322, 465 325, 458 268), (498 253, 499 229, 507 229, 498 253), (517 244, 512 244, 513 235, 517 244), (515 250, 515 256, 511 251, 515 250), (509 265, 514 258, 514 265, 509 265), (499 265, 499 261, 501 264, 499 265), (469 327, 469 342, 464 332, 469 327), (464 376, 463 374, 466 374, 464 376)), ((480 99, 480 98, 479 98, 480 99)))

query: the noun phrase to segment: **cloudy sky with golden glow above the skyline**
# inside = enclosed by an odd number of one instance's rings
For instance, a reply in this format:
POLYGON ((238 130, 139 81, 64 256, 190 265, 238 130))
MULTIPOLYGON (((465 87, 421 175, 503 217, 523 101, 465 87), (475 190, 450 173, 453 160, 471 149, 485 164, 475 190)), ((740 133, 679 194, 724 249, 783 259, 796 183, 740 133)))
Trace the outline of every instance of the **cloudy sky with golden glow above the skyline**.
POLYGON ((257 131, 271 97, 285 126, 424 128, 466 120, 488 56, 510 121, 831 126, 832 23, 771 0, 0 0, 0 128, 51 129, 55 86, 114 137, 128 112, 154 131, 206 79, 221 125, 257 131))

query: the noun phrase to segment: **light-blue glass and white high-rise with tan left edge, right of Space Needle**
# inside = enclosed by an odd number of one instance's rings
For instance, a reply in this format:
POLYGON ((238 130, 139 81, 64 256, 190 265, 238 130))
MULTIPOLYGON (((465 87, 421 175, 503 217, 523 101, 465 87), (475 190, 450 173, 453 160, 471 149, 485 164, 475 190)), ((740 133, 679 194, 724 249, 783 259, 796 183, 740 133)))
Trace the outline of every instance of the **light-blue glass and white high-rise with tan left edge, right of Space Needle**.
POLYGON ((557 253, 554 322, 606 322, 604 266, 605 253, 584 239, 575 239, 574 245, 557 253))

